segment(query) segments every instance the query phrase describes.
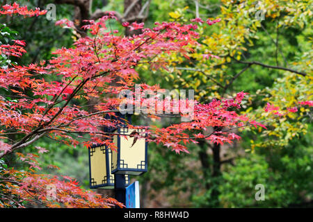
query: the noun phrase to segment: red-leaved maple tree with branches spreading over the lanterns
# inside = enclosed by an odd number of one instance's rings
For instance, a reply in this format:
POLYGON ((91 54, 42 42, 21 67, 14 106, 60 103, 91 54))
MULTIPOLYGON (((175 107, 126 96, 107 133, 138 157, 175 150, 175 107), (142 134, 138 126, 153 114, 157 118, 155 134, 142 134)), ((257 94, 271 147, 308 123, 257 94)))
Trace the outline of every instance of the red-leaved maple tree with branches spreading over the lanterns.
MULTIPOLYGON (((26 6, 3 6, 3 15, 19 14, 24 16, 44 15, 45 10, 28 10, 26 6)), ((0 88, 15 94, 15 99, 6 99, 0 96, 0 158, 15 153, 19 160, 29 164, 29 171, 17 171, 1 167, 0 186, 1 207, 23 207, 26 201, 40 201, 48 207, 110 207, 122 205, 112 198, 102 198, 99 194, 86 191, 77 186, 72 178, 65 180, 36 174, 40 164, 36 160, 38 155, 26 155, 18 151, 33 144, 42 137, 48 137, 55 142, 70 146, 90 145, 105 142, 115 148, 110 138, 113 133, 107 133, 102 126, 116 127, 123 120, 110 119, 107 116, 117 117, 119 105, 124 98, 118 98, 121 90, 134 92, 134 85, 138 81, 135 70, 140 64, 149 65, 150 69, 166 69, 168 62, 164 56, 179 53, 188 58, 188 53, 198 45, 200 35, 195 32, 199 19, 193 19, 190 24, 179 22, 155 23, 154 28, 144 28, 143 23, 123 24, 130 30, 141 29, 142 33, 131 37, 120 35, 118 31, 109 30, 106 22, 117 19, 114 12, 106 12, 99 22, 84 21, 81 28, 86 29, 88 35, 79 38, 71 48, 62 48, 54 51, 54 58, 42 61, 40 64, 17 65, 10 64, 0 68, 0 88), (49 76, 56 76, 58 80, 49 80, 49 76), (111 83, 118 83, 111 84, 111 83), (91 97, 101 99, 95 104, 95 111, 91 112, 76 105, 74 101, 88 101, 91 97), (15 135, 11 139, 10 135, 15 135), (86 138, 83 135, 89 135, 86 138), (47 199, 47 185, 55 185, 57 198, 54 201, 47 199), (15 198, 12 199, 12 196, 15 198)), ((220 19, 207 20, 211 25, 220 22, 220 19)), ((57 25, 74 28, 73 22, 63 19, 57 25)), ((26 42, 14 40, 13 44, 2 44, 1 54, 20 57, 26 53, 26 42)), ((214 57, 209 55, 209 57, 214 57)), ((141 83, 141 90, 155 92, 158 85, 141 83)), ((233 130, 247 126, 264 124, 255 119, 237 114, 234 110, 241 108, 246 93, 239 92, 234 99, 214 99, 210 103, 202 104, 193 101, 193 119, 188 122, 171 124, 165 128, 147 126, 145 137, 148 142, 155 142, 168 146, 176 153, 186 152, 186 144, 197 143, 198 139, 207 139, 216 144, 232 143, 239 139, 233 130), (209 135, 202 130, 212 127, 209 135)), ((152 104, 159 98, 141 98, 140 105, 152 104)), ((136 104, 135 101, 128 101, 136 104)), ((161 101, 162 103, 162 101, 161 101)), ((182 100, 173 103, 181 104, 182 100)), ((172 104, 173 106, 174 104, 172 104)), ((161 105, 162 111, 168 108, 161 105)), ((173 117, 184 117, 184 110, 179 107, 179 114, 173 117)), ((141 110, 149 117, 161 118, 153 112, 153 108, 141 110)), ((293 110, 291 110, 293 111, 293 110)), ((161 117, 160 117, 161 116, 161 117)), ((127 123, 129 128, 136 128, 127 123)), ((141 126, 143 128, 143 126, 141 126)), ((38 153, 45 153, 45 148, 37 147, 38 153)), ((1 163, 1 166, 4 166, 1 163)), ((53 167, 53 166, 51 166, 53 167)))

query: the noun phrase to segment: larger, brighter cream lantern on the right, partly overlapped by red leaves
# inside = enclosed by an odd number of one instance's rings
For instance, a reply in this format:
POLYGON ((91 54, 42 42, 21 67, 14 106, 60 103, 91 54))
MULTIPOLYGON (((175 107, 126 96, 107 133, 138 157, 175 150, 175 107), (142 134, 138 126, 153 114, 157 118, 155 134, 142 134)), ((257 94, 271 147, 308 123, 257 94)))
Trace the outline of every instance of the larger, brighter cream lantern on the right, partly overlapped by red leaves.
POLYGON ((117 151, 112 151, 112 173, 141 175, 147 172, 147 142, 145 138, 138 138, 134 142, 134 131, 141 135, 145 133, 144 129, 131 129, 125 126, 114 131, 116 135, 113 135, 113 143, 117 151))

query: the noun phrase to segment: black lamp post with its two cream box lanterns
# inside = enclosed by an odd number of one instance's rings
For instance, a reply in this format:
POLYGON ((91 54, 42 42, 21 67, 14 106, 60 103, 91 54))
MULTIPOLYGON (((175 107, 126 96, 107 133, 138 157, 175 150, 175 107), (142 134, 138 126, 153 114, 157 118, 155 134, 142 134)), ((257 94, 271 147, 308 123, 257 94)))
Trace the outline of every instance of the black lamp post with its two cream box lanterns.
MULTIPOLYGON (((120 115, 118 118, 131 120, 130 115, 120 115)), ((90 188, 114 188, 115 199, 126 205, 125 188, 129 185, 129 175, 147 172, 146 139, 134 136, 145 135, 145 130, 128 128, 125 121, 116 128, 104 130, 113 132, 113 144, 117 150, 112 151, 101 144, 89 148, 90 188)))

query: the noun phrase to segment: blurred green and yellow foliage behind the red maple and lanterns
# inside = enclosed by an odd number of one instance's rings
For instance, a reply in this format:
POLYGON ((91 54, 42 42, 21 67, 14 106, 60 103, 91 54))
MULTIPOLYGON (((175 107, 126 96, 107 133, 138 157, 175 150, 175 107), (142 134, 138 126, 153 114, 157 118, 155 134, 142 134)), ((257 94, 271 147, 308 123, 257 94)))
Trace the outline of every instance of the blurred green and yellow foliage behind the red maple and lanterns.
MULTIPOLYGON (((10 2, 10 1, 7 1, 10 2)), ((31 7, 45 8, 54 1, 18 1, 31 7)), ((146 27, 154 22, 188 22, 197 16, 203 20, 220 18, 212 26, 199 24, 199 46, 190 60, 179 55, 166 58, 170 71, 138 68, 141 81, 159 84, 166 89, 195 89, 201 102, 248 92, 242 114, 257 119, 270 118, 264 105, 270 102, 282 109, 297 101, 312 99, 312 1, 214 1, 152 0, 146 27), (255 13, 264 12, 260 21, 255 13), (213 54, 220 59, 204 58, 213 54), (262 65, 247 62, 261 62, 262 65), (263 65, 278 67, 268 68, 263 65), (302 76, 288 69, 305 72, 302 76)), ((93 10, 123 11, 123 0, 93 1, 93 10)), ((57 19, 71 19, 74 8, 56 5, 57 19)), ((71 46, 77 38, 72 31, 54 26, 45 17, 1 18, 1 42, 9 41, 18 31, 26 40, 28 53, 19 63, 29 64, 51 58, 51 51, 71 46), (6 29, 9 26, 11 31, 6 29), (8 36, 7 36, 8 35, 8 36)), ((111 28, 123 32, 118 22, 111 28)), ((0 59, 1 66, 6 58, 0 59)), ((153 119, 134 117, 137 124, 147 125, 153 119)), ((169 119, 157 124, 167 126, 169 119)), ((155 122, 154 122, 155 124, 155 122)), ((149 144, 149 171, 132 180, 141 182, 142 207, 312 207, 313 146, 312 108, 300 108, 284 119, 268 123, 268 130, 249 128, 240 133, 241 141, 220 146, 220 174, 214 174, 214 146, 207 142, 192 144, 190 154, 175 154, 167 148, 149 144), (205 158, 205 160, 203 160, 205 158), (265 200, 255 200, 255 185, 265 187, 265 200)), ((49 139, 27 148, 42 146, 49 153, 41 155, 42 173, 77 178, 88 188, 88 151, 70 148, 49 139)), ((22 167, 12 157, 9 165, 22 167)))

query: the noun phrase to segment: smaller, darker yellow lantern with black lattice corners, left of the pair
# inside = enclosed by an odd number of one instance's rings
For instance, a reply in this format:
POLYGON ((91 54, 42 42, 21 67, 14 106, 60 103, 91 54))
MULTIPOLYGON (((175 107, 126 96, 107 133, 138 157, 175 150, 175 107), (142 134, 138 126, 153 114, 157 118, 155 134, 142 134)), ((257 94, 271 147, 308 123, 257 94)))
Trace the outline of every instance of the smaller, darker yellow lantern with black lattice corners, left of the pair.
MULTIPOLYGON (((106 145, 95 145, 89 148, 89 175, 91 189, 113 189, 114 175, 111 173, 111 148, 106 145)), ((129 176, 125 176, 129 185, 129 176)))

